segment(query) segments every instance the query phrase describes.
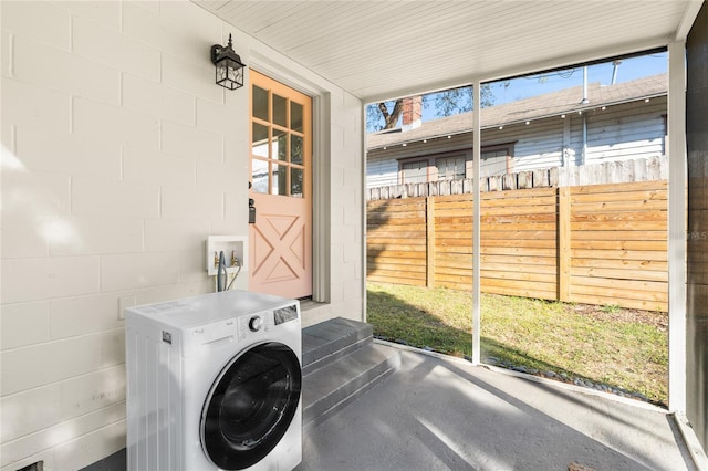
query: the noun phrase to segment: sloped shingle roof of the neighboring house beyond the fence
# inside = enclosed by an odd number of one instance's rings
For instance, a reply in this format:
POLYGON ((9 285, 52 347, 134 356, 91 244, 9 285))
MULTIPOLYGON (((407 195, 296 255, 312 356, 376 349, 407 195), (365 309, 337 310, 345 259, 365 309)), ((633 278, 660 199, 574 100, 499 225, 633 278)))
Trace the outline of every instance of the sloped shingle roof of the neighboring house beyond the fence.
MULTIPOLYGON (((566 113, 577 113, 601 106, 612 106, 643 101, 667 93, 666 74, 652 75, 614 85, 601 85, 598 82, 587 85, 587 103, 583 104, 582 85, 563 88, 530 98, 518 100, 483 108, 481 128, 506 126, 527 121, 566 113)), ((366 148, 375 149, 395 144, 409 143, 445 135, 470 133, 475 126, 473 113, 461 113, 439 119, 424 122, 419 127, 402 132, 400 129, 373 133, 366 136, 366 148)))

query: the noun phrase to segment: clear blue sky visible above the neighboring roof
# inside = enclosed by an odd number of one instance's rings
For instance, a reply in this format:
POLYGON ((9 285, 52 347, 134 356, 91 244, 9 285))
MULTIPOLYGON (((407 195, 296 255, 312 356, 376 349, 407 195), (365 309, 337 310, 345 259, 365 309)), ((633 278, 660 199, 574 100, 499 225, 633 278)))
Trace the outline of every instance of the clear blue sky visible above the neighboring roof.
MULTIPOLYGON (((623 59, 616 70, 616 83, 627 82, 644 76, 665 73, 668 66, 666 52, 623 59)), ((613 76, 613 63, 606 62, 587 67, 587 82, 600 82, 601 85, 610 85, 613 76)), ((510 81, 492 82, 494 105, 501 105, 516 100, 523 100, 544 93, 555 92, 583 84, 583 67, 565 71, 537 74, 510 81)), ((371 105, 369 105, 371 106, 371 105)), ((435 106, 426 106, 423 109, 423 121, 437 119, 435 106)), ((367 130, 368 129, 367 126, 367 130)))

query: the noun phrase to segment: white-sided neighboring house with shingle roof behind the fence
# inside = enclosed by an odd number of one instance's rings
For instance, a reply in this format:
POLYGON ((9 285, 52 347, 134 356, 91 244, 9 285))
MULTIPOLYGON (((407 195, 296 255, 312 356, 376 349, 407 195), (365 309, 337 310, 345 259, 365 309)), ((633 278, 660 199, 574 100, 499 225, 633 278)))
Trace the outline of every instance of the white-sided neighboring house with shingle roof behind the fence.
MULTIPOLYGON (((660 74, 482 108, 481 176, 665 155, 666 93, 660 74)), ((367 135, 367 188, 471 178, 472 115, 367 135)))

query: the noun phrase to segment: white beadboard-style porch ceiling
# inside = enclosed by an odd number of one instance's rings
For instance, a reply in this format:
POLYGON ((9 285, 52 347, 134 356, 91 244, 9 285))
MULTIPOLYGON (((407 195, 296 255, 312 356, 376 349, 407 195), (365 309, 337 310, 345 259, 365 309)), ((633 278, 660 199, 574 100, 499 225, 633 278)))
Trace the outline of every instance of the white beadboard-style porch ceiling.
POLYGON ((702 0, 192 0, 365 102, 685 39, 702 0))

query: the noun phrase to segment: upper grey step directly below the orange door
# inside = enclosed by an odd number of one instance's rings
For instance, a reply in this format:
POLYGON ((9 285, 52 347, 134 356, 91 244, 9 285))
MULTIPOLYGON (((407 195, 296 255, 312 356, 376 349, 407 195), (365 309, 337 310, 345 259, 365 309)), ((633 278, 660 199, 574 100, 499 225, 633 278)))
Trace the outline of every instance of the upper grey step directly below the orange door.
POLYGON ((306 376, 373 341, 371 324, 336 317, 302 331, 302 374, 306 376))

